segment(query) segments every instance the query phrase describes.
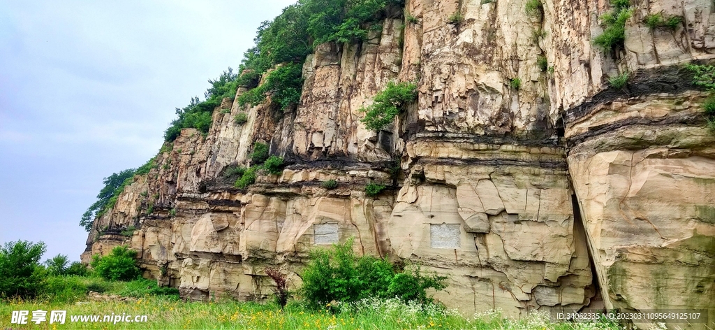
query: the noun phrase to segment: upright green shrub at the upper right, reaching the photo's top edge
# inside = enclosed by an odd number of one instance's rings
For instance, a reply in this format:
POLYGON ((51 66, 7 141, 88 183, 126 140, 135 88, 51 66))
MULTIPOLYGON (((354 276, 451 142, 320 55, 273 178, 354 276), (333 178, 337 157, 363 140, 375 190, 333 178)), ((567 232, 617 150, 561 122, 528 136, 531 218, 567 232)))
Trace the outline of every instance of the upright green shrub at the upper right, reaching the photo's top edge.
POLYGON ((626 40, 626 21, 631 18, 633 9, 628 9, 628 0, 612 0, 613 11, 601 15, 603 34, 593 39, 593 44, 603 52, 610 52, 614 47, 623 48, 626 40))

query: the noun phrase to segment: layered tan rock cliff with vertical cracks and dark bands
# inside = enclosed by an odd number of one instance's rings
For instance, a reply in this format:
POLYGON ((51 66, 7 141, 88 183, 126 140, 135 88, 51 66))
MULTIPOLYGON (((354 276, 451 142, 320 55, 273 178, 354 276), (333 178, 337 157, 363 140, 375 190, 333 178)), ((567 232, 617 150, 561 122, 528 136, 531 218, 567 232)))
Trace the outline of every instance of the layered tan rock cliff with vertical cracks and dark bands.
POLYGON ((715 59, 715 3, 632 1, 625 49, 611 53, 591 42, 606 2, 525 5, 408 1, 415 19, 317 47, 297 108, 225 99, 208 135, 183 130, 95 220, 83 260, 128 243, 145 276, 183 296, 262 299, 266 266, 299 286, 310 248, 354 236, 360 253, 448 274, 435 298, 465 314, 708 309, 715 320, 715 135, 682 67, 715 59), (649 14, 682 21, 651 29, 649 14), (609 87, 623 72, 626 86, 609 87), (366 130, 359 109, 391 80, 418 82, 418 102, 366 130), (250 162, 254 142, 289 165, 234 188, 223 173, 250 162), (390 188, 370 197, 371 182, 390 188))

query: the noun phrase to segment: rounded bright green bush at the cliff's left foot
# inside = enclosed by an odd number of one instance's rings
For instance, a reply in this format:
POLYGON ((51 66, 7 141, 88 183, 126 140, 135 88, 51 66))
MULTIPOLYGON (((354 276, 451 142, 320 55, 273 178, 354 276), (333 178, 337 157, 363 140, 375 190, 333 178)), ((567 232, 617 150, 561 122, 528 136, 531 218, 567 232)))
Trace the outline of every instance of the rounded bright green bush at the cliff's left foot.
POLYGON ((141 275, 136 258, 137 251, 117 246, 108 256, 92 256, 91 265, 99 276, 109 281, 132 281, 141 275))

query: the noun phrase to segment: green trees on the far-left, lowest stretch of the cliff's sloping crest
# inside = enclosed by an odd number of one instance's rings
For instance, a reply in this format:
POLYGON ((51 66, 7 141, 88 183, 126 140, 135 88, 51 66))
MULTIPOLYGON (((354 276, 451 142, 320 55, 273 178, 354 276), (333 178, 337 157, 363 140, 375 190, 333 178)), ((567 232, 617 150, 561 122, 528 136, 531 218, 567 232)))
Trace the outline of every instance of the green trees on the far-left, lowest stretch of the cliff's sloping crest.
POLYGON ((104 214, 107 209, 114 207, 114 203, 117 203, 117 198, 124 191, 124 187, 132 183, 135 173, 136 170, 129 168, 119 173, 112 173, 112 175, 104 178, 104 188, 99 190, 97 201, 89 206, 82 215, 82 220, 79 221, 79 225, 84 227, 84 230, 89 231, 92 229, 94 218, 104 214))

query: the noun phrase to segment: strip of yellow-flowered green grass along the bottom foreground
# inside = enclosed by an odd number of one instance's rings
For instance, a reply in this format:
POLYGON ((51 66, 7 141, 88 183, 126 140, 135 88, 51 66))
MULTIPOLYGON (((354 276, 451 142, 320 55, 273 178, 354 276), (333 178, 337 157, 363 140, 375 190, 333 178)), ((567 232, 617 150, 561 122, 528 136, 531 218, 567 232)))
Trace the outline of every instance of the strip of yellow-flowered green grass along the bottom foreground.
MULTIPOLYGON (((86 301, 86 300, 85 300, 86 301)), ((51 329, 621 329, 610 323, 553 323, 546 314, 531 314, 515 321, 489 311, 464 317, 436 305, 421 307, 397 299, 358 301, 355 304, 326 306, 314 311, 292 301, 281 311, 275 304, 236 301, 187 302, 164 297, 148 297, 125 302, 91 304, 9 301, 0 304, 0 324, 10 324, 12 311, 67 311, 64 324, 51 329), (330 310, 328 310, 330 308, 330 310), (146 315, 145 323, 72 323, 73 315, 146 315)), ((31 315, 30 315, 31 316, 31 315)), ((40 326, 49 326, 46 322, 40 326)))

